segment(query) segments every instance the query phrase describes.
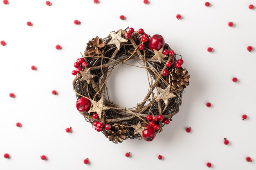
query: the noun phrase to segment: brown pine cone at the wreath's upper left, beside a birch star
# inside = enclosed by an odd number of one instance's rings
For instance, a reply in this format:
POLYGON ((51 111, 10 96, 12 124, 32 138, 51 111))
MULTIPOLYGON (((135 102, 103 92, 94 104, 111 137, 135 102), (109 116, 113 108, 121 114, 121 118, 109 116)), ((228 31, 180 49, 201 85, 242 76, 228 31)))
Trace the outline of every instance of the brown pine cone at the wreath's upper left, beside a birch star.
POLYGON ((85 54, 88 54, 91 57, 102 54, 104 51, 103 47, 105 47, 105 43, 103 43, 103 40, 98 36, 96 38, 92 38, 92 41, 89 41, 86 45, 85 54))

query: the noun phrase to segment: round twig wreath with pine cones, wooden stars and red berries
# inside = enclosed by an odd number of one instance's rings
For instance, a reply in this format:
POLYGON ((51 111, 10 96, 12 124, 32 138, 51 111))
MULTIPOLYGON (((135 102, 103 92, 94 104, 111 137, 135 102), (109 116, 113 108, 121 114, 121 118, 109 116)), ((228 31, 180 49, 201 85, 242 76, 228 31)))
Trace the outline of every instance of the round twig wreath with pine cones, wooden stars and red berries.
POLYGON ((106 38, 92 38, 83 57, 74 63, 73 89, 76 107, 96 131, 101 131, 115 144, 124 140, 152 141, 165 124, 179 112, 182 93, 189 85, 189 73, 183 60, 164 43, 161 35, 133 28, 110 32, 106 38), (135 59, 146 70, 148 93, 135 107, 115 104, 108 96, 106 81, 115 65, 135 59), (153 90, 156 88, 157 94, 153 90))

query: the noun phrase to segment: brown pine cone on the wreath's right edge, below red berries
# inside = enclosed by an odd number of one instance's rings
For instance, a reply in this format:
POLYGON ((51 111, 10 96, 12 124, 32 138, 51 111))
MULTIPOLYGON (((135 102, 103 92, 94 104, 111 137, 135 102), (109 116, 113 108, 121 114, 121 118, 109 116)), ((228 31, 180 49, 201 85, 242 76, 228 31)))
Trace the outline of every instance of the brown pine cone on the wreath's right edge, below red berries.
POLYGON ((169 83, 175 89, 184 89, 189 85, 189 72, 184 68, 173 68, 169 75, 169 83))

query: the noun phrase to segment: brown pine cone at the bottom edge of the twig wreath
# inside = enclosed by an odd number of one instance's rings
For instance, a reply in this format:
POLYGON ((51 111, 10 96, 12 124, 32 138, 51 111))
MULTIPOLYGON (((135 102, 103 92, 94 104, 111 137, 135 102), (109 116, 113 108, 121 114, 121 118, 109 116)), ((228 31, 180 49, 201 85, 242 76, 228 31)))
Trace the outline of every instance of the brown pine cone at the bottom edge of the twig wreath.
POLYGON ((125 139, 128 138, 128 130, 126 130, 126 127, 121 124, 113 124, 107 133, 108 139, 115 144, 118 144, 118 142, 122 143, 125 139))

